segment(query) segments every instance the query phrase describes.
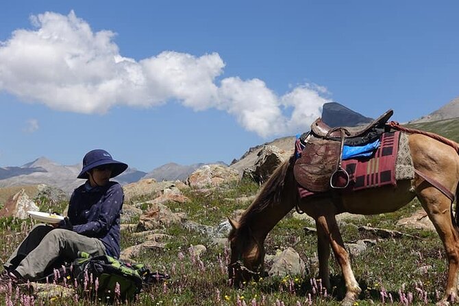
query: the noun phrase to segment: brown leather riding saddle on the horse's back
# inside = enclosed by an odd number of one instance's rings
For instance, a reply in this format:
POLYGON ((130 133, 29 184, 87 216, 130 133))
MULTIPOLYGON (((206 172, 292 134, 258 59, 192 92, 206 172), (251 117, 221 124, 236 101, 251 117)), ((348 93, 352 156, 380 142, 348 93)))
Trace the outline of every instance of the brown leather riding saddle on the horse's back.
POLYGON ((393 113, 388 110, 369 125, 355 128, 330 128, 321 118, 314 121, 293 168, 299 185, 312 192, 346 188, 349 174, 341 166, 343 146, 364 145, 379 139, 393 113))

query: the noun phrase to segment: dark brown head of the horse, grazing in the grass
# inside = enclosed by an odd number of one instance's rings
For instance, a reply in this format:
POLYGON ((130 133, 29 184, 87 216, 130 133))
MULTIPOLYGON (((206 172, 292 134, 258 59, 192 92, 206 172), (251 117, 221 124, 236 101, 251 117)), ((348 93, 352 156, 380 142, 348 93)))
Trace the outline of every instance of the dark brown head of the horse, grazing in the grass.
POLYGON ((237 221, 228 220, 232 226, 228 236, 231 247, 229 279, 235 286, 251 279, 258 281, 260 276, 264 276, 264 247, 253 236, 249 226, 240 226, 237 221))

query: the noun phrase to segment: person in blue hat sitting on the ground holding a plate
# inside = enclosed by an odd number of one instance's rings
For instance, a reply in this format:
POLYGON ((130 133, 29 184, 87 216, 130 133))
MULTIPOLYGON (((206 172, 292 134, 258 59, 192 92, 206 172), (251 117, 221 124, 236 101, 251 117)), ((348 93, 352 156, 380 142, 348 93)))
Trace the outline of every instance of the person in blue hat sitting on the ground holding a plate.
POLYGON ((3 265, 6 275, 16 283, 35 281, 56 263, 76 259, 79 251, 118 258, 124 194, 110 178, 125 169, 105 150, 88 152, 78 175, 87 180, 73 191, 68 217, 53 226, 36 224, 3 265))

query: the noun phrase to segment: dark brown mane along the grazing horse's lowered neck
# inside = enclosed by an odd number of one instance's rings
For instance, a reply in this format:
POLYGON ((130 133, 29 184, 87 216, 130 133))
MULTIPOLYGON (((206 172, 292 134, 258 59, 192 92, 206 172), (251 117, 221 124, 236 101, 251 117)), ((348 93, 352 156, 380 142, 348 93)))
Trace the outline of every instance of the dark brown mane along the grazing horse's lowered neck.
POLYGON ((240 228, 244 228, 254 215, 257 215, 269 205, 275 205, 280 202, 283 196, 288 169, 292 168, 294 163, 295 155, 292 155, 275 169, 270 178, 262 186, 256 199, 253 200, 249 208, 240 217, 240 228))

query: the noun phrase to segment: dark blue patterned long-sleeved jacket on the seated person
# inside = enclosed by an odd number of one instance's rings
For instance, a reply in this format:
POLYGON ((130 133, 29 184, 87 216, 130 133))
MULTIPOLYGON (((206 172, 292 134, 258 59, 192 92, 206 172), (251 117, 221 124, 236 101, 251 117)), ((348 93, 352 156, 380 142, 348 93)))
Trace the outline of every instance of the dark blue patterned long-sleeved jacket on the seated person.
POLYGON ((81 185, 73 191, 67 213, 72 231, 100 239, 108 255, 119 258, 123 200, 119 183, 110 182, 92 189, 81 185))

